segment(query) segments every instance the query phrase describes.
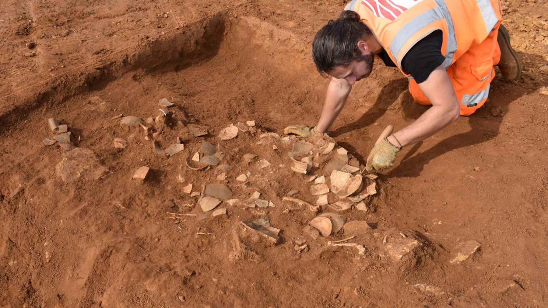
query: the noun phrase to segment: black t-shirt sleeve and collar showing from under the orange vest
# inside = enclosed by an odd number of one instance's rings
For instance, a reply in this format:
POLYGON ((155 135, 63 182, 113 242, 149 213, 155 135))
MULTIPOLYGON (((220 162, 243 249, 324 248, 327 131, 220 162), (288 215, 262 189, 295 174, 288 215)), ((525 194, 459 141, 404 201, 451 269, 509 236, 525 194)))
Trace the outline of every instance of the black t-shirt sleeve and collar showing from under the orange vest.
MULTIPOLYGON (((403 57, 403 71, 412 75, 416 83, 424 82, 430 73, 445 60, 445 56, 441 52, 442 43, 443 33, 441 30, 436 30, 416 42, 403 57)), ((386 50, 381 51, 378 56, 386 66, 397 67, 386 50)))

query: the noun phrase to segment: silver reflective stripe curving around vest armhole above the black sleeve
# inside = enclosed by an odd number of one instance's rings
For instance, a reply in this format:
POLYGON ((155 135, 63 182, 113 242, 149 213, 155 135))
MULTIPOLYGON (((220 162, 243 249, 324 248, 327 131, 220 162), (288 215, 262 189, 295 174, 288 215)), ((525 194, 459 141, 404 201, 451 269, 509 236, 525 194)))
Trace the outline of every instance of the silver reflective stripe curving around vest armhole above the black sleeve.
MULTIPOLYGON (((401 67, 401 59, 398 59, 398 54, 399 50, 403 47, 403 44, 405 44, 407 40, 413 36, 413 34, 421 30, 421 28, 439 19, 445 19, 447 23, 447 50, 445 54, 446 60, 443 61, 443 66, 447 69, 453 62, 453 54, 456 51, 456 38, 453 20, 451 19, 451 15, 447 10, 445 2, 443 0, 435 0, 435 2, 438 5, 437 8, 427 10, 419 16, 416 16, 416 18, 409 21, 401 30, 399 30, 396 36, 392 39, 390 44, 390 52, 394 56, 398 67, 401 67)), ((407 51, 403 55, 406 53, 407 51)))

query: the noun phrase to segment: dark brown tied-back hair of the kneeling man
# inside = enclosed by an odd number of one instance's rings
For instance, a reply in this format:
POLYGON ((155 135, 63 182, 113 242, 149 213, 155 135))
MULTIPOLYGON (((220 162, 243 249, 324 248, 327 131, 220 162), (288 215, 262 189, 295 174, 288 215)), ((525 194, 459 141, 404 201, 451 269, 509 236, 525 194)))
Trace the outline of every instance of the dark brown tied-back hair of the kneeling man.
POLYGON ((355 11, 344 10, 336 20, 329 20, 316 33, 312 43, 312 59, 316 69, 326 76, 335 66, 349 65, 362 57, 357 43, 371 35, 355 11))

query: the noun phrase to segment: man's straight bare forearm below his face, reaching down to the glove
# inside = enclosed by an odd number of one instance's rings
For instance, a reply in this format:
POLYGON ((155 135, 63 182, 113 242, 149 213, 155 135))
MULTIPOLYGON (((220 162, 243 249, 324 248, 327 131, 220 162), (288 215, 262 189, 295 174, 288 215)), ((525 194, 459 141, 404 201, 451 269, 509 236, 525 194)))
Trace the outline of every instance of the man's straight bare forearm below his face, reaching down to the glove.
POLYGON ((352 90, 352 85, 345 79, 332 78, 327 86, 326 101, 323 103, 322 115, 319 117, 316 129, 326 132, 346 103, 352 90))

